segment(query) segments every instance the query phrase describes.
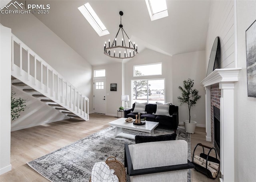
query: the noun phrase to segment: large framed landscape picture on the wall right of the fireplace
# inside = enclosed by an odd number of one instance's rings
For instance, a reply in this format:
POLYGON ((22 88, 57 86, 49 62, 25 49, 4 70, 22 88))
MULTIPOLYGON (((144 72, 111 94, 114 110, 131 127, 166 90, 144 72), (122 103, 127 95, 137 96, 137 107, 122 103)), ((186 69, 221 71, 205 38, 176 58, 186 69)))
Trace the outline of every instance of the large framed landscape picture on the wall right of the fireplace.
POLYGON ((256 97, 256 20, 246 30, 246 67, 248 97, 256 97))

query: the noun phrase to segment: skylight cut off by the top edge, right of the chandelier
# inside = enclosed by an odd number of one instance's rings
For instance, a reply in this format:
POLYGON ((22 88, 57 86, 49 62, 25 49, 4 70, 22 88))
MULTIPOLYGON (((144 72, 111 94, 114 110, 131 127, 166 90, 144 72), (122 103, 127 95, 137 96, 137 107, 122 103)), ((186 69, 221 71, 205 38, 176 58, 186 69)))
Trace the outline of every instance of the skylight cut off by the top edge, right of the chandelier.
POLYGON ((145 0, 151 21, 168 16, 166 0, 145 0))

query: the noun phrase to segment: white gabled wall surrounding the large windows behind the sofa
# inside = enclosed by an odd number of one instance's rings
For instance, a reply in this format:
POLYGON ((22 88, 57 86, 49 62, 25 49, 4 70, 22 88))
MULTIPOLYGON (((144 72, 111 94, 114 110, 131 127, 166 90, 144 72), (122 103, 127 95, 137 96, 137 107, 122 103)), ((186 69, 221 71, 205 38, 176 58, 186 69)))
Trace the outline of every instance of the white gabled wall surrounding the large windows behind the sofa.
POLYGON ((165 101, 173 102, 172 100, 172 57, 163 55, 161 53, 152 51, 150 49, 144 49, 132 60, 125 63, 124 66, 125 75, 125 91, 123 94, 129 95, 130 101, 128 101, 128 107, 132 107, 131 98, 131 80, 137 79, 155 79, 165 78, 165 101), (151 63, 162 63, 162 75, 155 76, 133 76, 134 65, 144 65, 151 63))

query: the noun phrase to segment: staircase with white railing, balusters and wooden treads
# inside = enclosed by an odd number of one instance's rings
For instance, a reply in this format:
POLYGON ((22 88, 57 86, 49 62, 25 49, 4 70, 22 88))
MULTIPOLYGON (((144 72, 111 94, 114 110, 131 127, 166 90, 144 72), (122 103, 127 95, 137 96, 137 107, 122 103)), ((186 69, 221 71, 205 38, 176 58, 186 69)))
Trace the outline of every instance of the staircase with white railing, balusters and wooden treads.
POLYGON ((89 119, 89 99, 13 34, 12 86, 68 117, 89 119))

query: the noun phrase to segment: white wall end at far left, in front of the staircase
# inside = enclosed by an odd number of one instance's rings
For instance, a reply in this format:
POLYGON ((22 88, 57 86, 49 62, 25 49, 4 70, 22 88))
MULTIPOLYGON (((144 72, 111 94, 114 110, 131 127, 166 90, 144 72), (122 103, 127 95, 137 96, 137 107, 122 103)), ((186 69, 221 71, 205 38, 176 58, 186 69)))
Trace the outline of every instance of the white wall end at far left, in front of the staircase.
POLYGON ((11 29, 0 25, 0 175, 12 169, 11 147, 11 29))

